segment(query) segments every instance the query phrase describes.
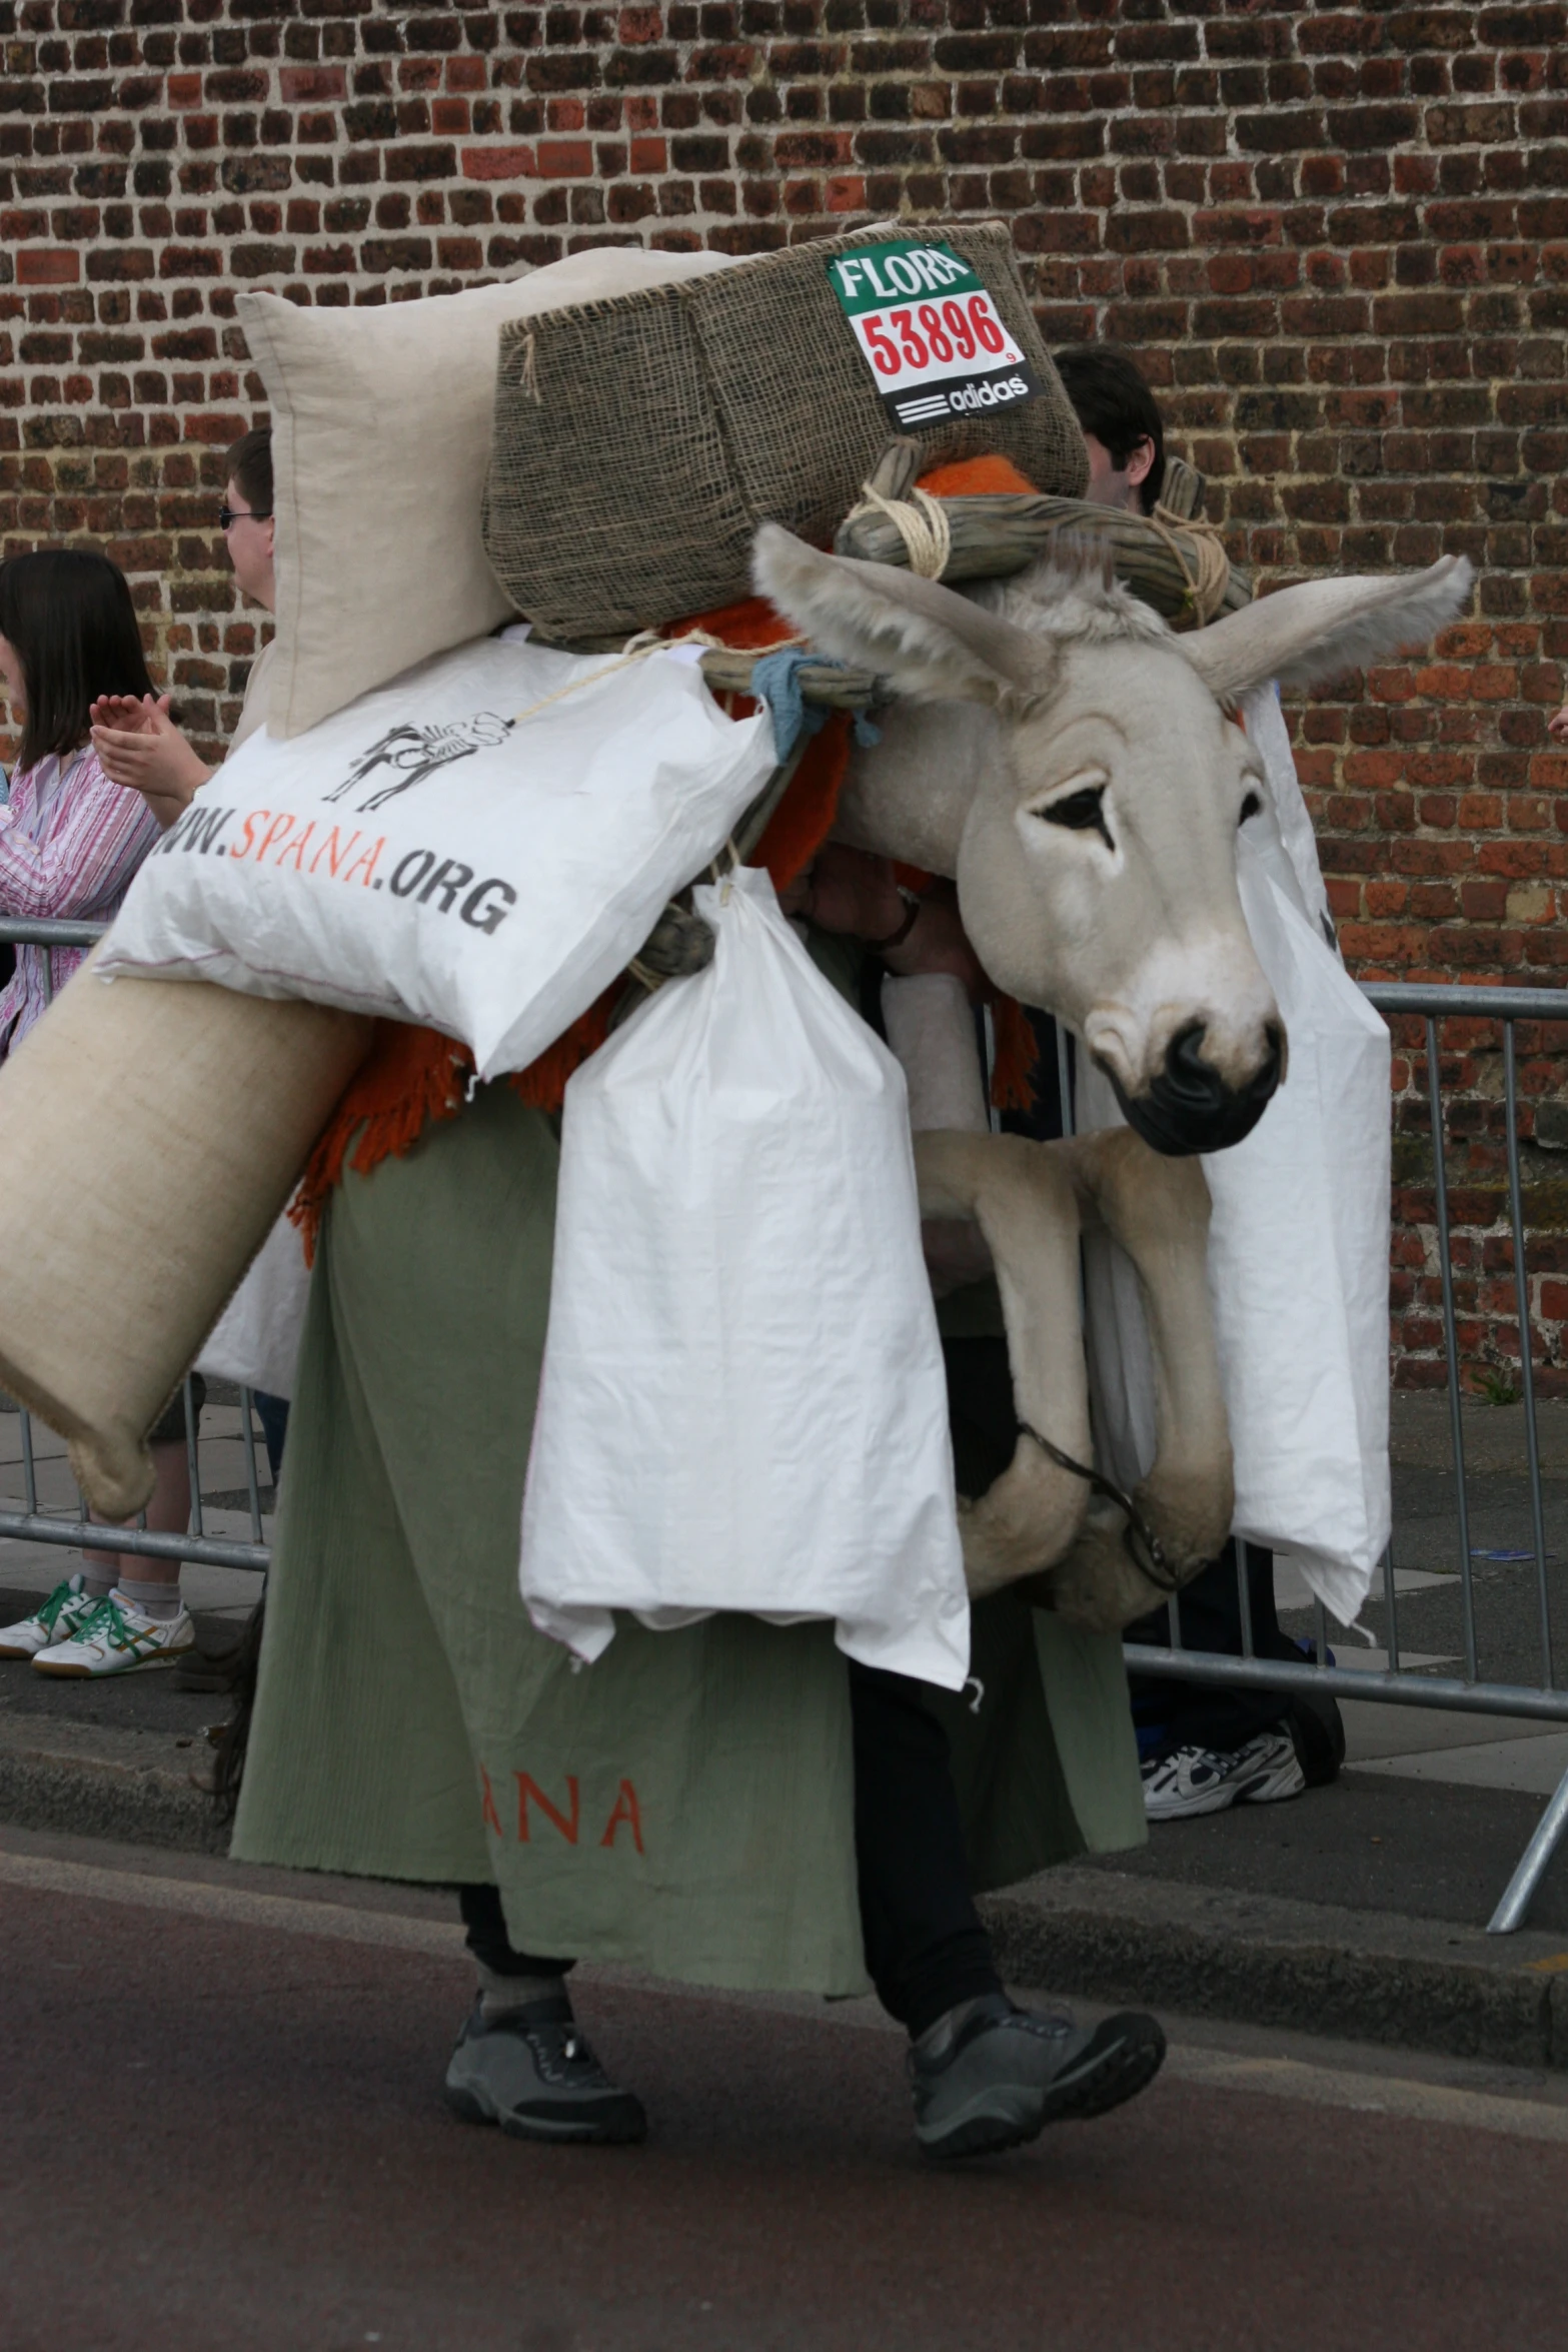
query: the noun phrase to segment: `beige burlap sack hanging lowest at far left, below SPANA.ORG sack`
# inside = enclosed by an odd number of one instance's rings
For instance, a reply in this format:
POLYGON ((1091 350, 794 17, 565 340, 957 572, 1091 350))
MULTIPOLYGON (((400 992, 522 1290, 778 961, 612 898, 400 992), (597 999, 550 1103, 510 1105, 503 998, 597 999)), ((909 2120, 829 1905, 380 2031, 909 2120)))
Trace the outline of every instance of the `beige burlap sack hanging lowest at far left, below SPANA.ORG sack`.
POLYGON ((106 985, 89 960, 0 1065, 0 1388, 68 1439, 106 1519, 150 1496, 146 1430, 369 1035, 200 981, 106 985))

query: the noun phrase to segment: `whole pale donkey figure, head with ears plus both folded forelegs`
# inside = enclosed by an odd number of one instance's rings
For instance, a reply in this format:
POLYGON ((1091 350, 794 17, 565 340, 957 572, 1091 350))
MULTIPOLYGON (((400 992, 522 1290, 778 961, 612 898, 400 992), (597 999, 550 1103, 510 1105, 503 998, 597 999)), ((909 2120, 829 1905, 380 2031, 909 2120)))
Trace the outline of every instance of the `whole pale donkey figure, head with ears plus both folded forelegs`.
POLYGON ((1079 1033, 1135 1129, 922 1134, 914 1155, 922 1211, 973 1218, 990 1244, 1020 1421, 1009 1470, 959 1508, 969 1588, 1037 1578, 1032 1597, 1110 1632, 1232 1524, 1208 1188, 1190 1155, 1262 1117, 1286 1037, 1237 891, 1237 833, 1272 818, 1229 708, 1269 677, 1312 684, 1429 637, 1465 604, 1469 564, 1284 588, 1192 637, 1077 548, 966 597, 769 527, 757 586, 900 696, 851 767, 839 837, 957 877, 992 981, 1079 1033), (1081 1232, 1121 1244, 1147 1310, 1159 1446, 1131 1508, 1091 1501, 1074 1468, 1093 1449, 1081 1232))

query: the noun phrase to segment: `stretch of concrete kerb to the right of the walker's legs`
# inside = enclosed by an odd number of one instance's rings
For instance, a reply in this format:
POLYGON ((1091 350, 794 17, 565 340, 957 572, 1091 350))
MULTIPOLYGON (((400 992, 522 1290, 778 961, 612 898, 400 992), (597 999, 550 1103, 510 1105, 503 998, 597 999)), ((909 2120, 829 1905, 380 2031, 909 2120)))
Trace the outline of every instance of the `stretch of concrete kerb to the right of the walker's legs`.
POLYGON ((1561 1936, 1053 1870, 987 1896, 1011 1985, 1568 2070, 1561 1936))

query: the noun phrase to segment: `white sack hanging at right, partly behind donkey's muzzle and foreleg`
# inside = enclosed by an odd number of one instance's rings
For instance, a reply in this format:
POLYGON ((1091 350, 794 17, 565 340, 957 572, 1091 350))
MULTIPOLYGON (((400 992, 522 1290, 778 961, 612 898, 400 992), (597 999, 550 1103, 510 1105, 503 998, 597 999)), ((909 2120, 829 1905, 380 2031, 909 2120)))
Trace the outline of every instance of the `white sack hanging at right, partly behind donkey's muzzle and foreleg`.
MULTIPOLYGON (((1246 835, 1237 875, 1291 1040, 1253 1134, 1204 1157, 1208 1291, 1237 1456, 1234 1534, 1293 1552, 1352 1623, 1389 1541, 1389 1033, 1246 835)), ((1114 1127, 1081 1068, 1079 1127, 1114 1127)), ((1154 1458, 1154 1378, 1138 1277, 1086 1244, 1095 1423, 1131 1484, 1154 1458)))

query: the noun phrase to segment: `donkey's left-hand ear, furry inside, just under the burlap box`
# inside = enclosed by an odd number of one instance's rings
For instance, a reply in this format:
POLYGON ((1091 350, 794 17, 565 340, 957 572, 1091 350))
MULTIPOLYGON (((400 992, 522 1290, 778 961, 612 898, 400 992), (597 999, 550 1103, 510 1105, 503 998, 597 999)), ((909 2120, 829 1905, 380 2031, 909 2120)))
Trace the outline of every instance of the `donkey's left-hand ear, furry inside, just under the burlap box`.
POLYGON ((1039 694, 1053 673, 1039 637, 952 588, 893 564, 818 555, 778 522, 757 532, 752 579, 825 654, 875 670, 912 701, 1006 708, 1039 694))

